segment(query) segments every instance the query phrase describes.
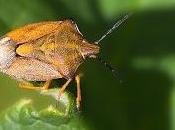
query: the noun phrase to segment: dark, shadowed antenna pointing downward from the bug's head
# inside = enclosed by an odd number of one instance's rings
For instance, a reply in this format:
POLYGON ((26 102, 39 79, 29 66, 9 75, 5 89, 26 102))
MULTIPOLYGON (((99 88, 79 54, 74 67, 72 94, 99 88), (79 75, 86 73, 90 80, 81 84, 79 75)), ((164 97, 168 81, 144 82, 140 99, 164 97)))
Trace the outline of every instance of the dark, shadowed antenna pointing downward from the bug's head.
POLYGON ((97 57, 97 59, 100 61, 100 63, 102 63, 106 68, 108 68, 112 74, 114 75, 114 77, 118 78, 120 83, 122 83, 123 81, 119 78, 119 72, 116 70, 116 68, 114 68, 112 65, 110 65, 109 63, 107 63, 105 60, 103 60, 100 56, 97 57))

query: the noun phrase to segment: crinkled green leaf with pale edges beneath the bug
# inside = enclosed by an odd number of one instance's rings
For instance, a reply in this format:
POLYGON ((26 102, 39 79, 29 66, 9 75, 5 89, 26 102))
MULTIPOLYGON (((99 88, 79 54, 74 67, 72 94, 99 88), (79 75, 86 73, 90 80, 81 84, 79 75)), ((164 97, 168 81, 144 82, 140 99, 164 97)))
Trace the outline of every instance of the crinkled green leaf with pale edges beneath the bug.
MULTIPOLYGON (((58 89, 57 89, 58 91, 58 89)), ((42 91, 55 95, 56 89, 42 91)), ((87 130, 87 126, 75 109, 74 98, 65 93, 57 106, 50 105, 36 110, 31 99, 22 99, 0 116, 0 130, 87 130)))

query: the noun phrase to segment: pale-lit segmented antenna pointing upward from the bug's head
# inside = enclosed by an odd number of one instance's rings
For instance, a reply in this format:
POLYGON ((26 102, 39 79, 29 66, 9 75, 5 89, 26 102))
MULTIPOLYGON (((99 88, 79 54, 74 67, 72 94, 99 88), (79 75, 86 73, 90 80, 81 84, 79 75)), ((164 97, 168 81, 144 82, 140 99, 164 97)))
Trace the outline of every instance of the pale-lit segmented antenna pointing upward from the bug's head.
POLYGON ((118 20, 112 28, 110 28, 97 42, 99 44, 107 35, 111 34, 115 29, 117 29, 124 21, 126 21, 131 16, 131 13, 125 15, 122 19, 118 20))

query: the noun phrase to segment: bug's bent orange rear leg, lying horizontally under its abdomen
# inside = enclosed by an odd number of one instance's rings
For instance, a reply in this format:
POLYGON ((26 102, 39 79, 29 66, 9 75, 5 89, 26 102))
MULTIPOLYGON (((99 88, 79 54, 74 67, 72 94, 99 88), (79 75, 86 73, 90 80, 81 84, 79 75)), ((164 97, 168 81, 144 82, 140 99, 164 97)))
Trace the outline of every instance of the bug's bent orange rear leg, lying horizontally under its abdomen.
POLYGON ((24 89, 32 89, 32 90, 47 90, 49 89, 49 86, 51 84, 51 80, 48 80, 44 83, 42 87, 36 87, 32 83, 27 82, 27 81, 21 81, 19 82, 19 87, 24 88, 24 89))

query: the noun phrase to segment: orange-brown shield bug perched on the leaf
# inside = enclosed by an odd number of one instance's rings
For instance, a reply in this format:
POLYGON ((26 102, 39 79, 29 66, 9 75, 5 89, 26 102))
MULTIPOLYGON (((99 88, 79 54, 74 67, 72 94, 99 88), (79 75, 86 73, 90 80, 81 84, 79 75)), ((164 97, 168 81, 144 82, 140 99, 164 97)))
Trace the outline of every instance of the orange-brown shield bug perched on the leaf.
POLYGON ((126 15, 116 22, 94 43, 83 38, 72 20, 34 23, 18 28, 0 38, 0 70, 20 81, 20 87, 34 90, 49 89, 53 79, 67 79, 59 96, 75 79, 79 107, 81 89, 77 68, 86 58, 96 58, 100 50, 98 43, 128 17, 126 15), (45 83, 43 87, 35 87, 28 81, 45 83))

